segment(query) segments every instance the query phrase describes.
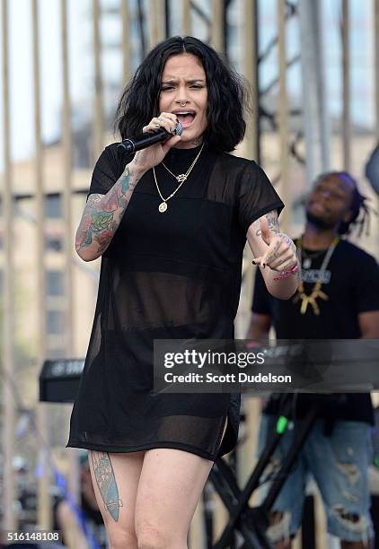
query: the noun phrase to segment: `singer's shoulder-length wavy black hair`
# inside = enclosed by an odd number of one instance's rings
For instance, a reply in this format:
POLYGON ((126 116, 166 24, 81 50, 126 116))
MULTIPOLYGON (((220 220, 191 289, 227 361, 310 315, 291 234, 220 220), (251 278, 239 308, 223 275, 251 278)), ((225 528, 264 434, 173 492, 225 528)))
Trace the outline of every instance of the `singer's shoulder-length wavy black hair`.
POLYGON ((140 134, 158 116, 164 65, 169 57, 189 53, 198 57, 207 77, 207 129, 204 138, 216 151, 231 152, 242 141, 249 89, 216 51, 191 36, 175 36, 153 48, 123 91, 116 111, 114 130, 122 139, 140 134))

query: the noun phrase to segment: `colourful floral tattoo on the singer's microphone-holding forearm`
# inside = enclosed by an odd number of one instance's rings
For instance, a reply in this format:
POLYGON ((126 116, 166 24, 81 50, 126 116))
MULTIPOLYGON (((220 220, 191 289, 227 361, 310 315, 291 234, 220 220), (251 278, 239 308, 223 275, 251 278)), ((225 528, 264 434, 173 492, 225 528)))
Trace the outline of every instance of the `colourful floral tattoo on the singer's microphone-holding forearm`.
POLYGON ((133 177, 127 166, 106 195, 89 196, 76 231, 77 251, 93 247, 95 244, 97 254, 101 255, 108 248, 137 181, 138 179, 133 177))

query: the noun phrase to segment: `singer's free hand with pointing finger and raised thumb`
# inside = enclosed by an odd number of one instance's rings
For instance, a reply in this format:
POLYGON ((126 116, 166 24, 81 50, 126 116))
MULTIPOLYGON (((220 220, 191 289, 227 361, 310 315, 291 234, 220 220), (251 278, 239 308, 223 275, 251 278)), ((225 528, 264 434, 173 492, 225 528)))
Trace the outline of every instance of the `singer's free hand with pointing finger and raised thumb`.
POLYGON ((297 266, 295 243, 284 233, 269 229, 266 217, 260 219, 261 238, 269 247, 263 256, 255 257, 254 265, 269 266, 274 271, 290 271, 297 266))

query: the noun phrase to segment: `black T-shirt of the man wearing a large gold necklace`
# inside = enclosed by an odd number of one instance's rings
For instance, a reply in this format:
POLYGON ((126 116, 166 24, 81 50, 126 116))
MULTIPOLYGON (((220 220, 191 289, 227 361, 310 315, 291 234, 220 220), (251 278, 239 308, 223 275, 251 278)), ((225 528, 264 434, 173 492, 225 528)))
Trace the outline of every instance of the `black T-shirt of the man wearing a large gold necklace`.
MULTIPOLYGON (((312 257, 309 268, 302 270, 304 291, 309 295, 319 275, 326 250, 304 250, 312 257)), ((303 262, 304 265, 304 262, 303 262)), ((361 337, 359 313, 379 310, 379 268, 375 258, 347 240, 339 240, 322 280, 328 301, 318 300, 320 315, 312 307, 300 314, 300 301, 283 301, 272 297, 260 270, 255 278, 252 311, 269 314, 278 339, 355 339, 361 337)), ((265 408, 267 414, 278 413, 280 395, 273 395, 265 408)), ((296 414, 304 415, 313 401, 312 395, 297 396, 296 414)), ((349 393, 329 396, 324 414, 331 419, 373 423, 368 394, 349 393)))

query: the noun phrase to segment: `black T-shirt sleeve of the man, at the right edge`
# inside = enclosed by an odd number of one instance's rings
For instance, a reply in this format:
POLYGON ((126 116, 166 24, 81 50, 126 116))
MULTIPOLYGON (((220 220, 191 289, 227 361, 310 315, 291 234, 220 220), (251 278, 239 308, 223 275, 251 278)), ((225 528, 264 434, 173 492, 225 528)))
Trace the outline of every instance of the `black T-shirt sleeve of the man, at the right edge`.
POLYGON ((363 260, 358 262, 356 293, 358 313, 379 310, 379 266, 374 257, 368 254, 364 257, 365 262, 363 260))

